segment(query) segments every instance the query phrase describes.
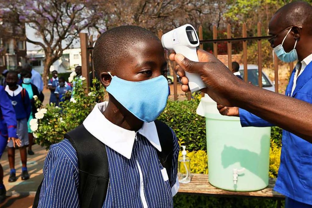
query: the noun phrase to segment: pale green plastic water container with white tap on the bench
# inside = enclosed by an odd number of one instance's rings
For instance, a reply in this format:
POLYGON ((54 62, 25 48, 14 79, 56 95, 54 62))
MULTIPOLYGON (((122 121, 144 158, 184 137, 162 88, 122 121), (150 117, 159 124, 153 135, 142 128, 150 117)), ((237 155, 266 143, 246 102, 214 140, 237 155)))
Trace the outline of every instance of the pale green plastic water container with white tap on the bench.
POLYGON ((241 127, 222 116, 207 94, 197 114, 206 117, 209 182, 228 191, 257 191, 269 184, 271 127, 241 127))

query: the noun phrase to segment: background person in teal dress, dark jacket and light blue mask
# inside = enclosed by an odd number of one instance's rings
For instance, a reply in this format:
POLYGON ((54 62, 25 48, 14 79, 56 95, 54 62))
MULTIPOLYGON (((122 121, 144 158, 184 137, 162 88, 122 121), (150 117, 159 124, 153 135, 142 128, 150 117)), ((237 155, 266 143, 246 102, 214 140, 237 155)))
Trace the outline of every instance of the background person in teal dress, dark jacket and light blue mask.
POLYGON ((21 72, 21 79, 23 80, 22 87, 27 90, 27 93, 29 95, 30 103, 31 103, 31 114, 29 116, 27 127, 28 127, 28 139, 29 139, 29 145, 28 145, 28 154, 33 155, 34 152, 32 151, 32 144, 34 136, 32 134, 32 130, 30 129, 30 120, 35 118, 35 113, 37 113, 37 108, 35 106, 35 99, 34 96, 36 95, 39 97, 39 91, 36 85, 32 84, 32 73, 27 70, 22 70, 21 72))

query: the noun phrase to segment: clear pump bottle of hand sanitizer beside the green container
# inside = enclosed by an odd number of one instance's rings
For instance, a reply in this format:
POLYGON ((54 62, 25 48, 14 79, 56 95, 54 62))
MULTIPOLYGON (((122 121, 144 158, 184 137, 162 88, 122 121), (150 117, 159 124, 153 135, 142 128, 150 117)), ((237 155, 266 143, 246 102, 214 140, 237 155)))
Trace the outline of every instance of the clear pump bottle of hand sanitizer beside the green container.
POLYGON ((179 157, 179 173, 178 179, 180 183, 189 183, 191 182, 191 159, 186 155, 185 146, 183 148, 182 156, 179 157))

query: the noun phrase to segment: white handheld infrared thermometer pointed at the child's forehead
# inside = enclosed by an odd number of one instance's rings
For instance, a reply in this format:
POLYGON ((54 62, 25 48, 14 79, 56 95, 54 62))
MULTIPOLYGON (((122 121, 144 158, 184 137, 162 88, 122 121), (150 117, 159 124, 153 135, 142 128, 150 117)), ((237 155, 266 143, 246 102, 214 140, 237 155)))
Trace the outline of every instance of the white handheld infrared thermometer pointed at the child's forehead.
MULTIPOLYGON (((161 37, 161 43, 165 49, 174 50, 177 54, 182 54, 189 60, 198 62, 196 47, 199 46, 199 40, 192 25, 186 24, 165 33, 161 37)), ((199 75, 189 72, 185 72, 185 75, 188 78, 191 92, 207 87, 199 75)))

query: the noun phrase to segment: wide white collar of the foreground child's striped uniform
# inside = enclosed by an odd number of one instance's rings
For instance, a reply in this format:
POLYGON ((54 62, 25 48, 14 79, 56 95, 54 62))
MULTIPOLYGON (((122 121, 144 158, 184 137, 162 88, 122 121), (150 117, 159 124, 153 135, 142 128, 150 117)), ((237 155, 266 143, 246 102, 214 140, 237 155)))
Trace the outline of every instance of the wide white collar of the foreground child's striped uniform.
MULTIPOLYGON (((105 111, 107 104, 108 102, 96 104, 94 109, 84 120, 83 125, 95 138, 124 157, 130 159, 136 133, 121 128, 107 120, 102 114, 105 111)), ((149 140, 149 142, 161 152, 157 129, 154 122, 144 122, 142 128, 138 132, 146 137, 147 140, 149 140)))

